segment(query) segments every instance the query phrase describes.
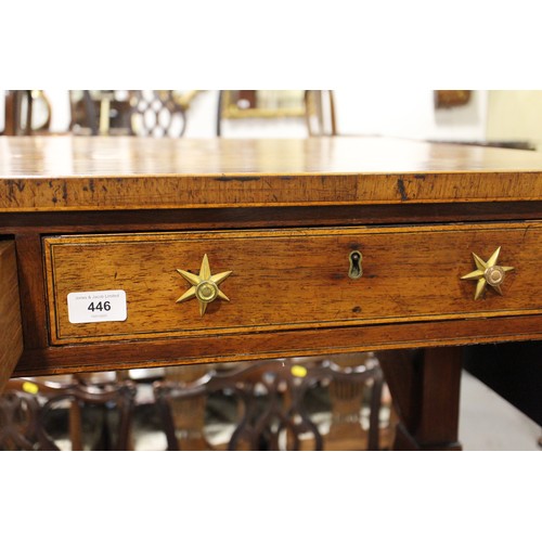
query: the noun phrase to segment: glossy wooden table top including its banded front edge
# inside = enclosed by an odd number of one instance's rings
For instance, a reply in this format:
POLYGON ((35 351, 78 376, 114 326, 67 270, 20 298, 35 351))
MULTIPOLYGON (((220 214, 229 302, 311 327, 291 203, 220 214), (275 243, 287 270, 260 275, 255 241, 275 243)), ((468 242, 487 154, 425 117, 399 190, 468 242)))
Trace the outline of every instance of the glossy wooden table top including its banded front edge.
POLYGON ((539 199, 532 151, 370 137, 0 138, 0 211, 539 199))

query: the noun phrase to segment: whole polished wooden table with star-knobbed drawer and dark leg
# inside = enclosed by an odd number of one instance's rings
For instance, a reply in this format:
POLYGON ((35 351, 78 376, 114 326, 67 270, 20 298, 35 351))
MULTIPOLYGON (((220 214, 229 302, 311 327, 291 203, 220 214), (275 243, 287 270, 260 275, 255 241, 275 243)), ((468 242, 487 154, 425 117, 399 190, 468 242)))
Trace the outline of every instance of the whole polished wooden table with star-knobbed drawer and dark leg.
POLYGON ((542 338, 542 156, 384 138, 0 138, 9 377, 376 351, 460 449, 462 346, 542 338))

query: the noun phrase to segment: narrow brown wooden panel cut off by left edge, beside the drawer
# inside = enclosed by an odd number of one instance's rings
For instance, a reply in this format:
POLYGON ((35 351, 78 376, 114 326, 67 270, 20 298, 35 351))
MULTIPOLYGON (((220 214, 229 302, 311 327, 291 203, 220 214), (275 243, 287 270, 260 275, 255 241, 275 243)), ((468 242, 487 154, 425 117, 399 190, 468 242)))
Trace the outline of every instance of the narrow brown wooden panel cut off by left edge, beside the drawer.
POLYGON ((15 244, 0 242, 0 391, 23 352, 15 244))

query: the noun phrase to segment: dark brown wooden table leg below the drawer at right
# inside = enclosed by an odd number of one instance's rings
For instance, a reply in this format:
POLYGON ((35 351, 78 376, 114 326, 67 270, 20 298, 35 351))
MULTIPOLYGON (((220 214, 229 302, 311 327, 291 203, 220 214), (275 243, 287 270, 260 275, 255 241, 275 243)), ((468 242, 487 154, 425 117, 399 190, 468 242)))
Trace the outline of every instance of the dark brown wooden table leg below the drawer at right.
POLYGON ((378 352, 400 422, 393 450, 461 450, 462 349, 378 352))

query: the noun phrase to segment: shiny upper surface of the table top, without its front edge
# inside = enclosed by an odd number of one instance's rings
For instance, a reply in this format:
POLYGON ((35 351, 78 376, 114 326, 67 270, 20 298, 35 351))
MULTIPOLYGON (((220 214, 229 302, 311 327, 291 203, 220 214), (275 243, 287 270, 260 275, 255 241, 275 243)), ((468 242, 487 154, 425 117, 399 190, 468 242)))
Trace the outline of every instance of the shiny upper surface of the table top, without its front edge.
POLYGON ((542 153, 375 137, 0 138, 0 178, 542 171, 542 153))

